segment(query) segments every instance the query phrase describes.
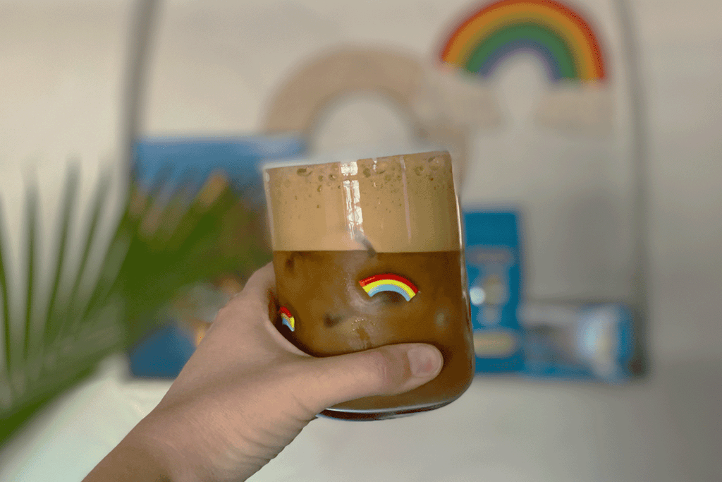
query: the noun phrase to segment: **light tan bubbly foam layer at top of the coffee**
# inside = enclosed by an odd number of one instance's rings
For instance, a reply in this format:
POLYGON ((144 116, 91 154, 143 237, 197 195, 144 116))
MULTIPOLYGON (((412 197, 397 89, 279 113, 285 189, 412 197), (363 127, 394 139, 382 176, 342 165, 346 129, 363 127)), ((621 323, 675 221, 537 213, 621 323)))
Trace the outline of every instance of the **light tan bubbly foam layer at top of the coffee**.
POLYGON ((448 152, 264 171, 276 251, 460 249, 448 152))

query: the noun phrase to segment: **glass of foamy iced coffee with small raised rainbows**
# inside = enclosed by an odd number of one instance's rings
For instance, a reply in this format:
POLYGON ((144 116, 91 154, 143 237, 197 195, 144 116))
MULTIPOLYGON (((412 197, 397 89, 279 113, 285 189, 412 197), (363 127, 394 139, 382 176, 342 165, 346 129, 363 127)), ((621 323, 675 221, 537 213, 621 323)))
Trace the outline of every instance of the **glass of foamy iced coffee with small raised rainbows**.
POLYGON ((444 358, 431 382, 322 412, 378 420, 456 400, 474 376, 466 265, 448 152, 268 165, 279 316, 312 356, 430 343, 444 358))

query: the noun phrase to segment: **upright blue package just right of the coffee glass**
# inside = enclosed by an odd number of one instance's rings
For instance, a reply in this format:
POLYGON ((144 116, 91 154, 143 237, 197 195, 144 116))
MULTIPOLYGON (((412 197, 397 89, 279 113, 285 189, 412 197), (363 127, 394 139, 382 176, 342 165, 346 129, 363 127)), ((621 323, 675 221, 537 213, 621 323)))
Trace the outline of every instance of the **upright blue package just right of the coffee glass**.
POLYGON ((466 270, 477 373, 523 368, 521 238, 516 211, 466 211, 466 270))

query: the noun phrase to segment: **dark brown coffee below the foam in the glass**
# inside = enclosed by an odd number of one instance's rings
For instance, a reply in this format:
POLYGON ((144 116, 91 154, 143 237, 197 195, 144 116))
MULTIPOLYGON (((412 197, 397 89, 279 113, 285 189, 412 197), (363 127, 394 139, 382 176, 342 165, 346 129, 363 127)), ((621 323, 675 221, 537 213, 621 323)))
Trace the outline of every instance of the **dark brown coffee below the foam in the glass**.
POLYGON ((439 408, 466 391, 474 376, 474 346, 463 262, 460 251, 274 251, 279 305, 294 317, 294 330, 281 317, 276 326, 301 350, 334 356, 419 342, 435 345, 444 358, 440 374, 421 387, 342 403, 323 415, 392 418, 439 408), (417 292, 407 301, 413 291, 403 296, 382 280, 371 296, 359 283, 388 273, 409 280, 417 292))

